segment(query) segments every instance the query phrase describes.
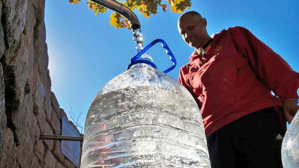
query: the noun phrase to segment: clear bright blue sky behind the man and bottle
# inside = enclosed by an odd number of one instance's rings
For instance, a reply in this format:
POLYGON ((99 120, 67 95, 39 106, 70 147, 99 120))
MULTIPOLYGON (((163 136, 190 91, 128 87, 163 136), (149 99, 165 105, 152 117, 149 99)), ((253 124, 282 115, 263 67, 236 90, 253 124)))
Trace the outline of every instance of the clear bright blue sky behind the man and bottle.
MULTIPOLYGON (((68 116, 70 107, 77 116, 82 112, 81 125, 96 93, 124 72, 130 58, 137 54, 131 30, 112 27, 111 10, 95 16, 85 2, 87 0, 81 0, 75 5, 68 0, 47 0, 45 6, 51 90, 68 116)), ((191 9, 186 11, 195 10, 207 19, 209 35, 232 26, 243 26, 299 71, 298 1, 191 2, 191 9)), ((144 44, 164 39, 172 50, 177 66, 168 74, 177 79, 180 67, 188 62, 193 51, 177 31, 181 14, 158 9, 157 15, 144 18, 138 11, 135 13, 141 23, 144 44)), ((161 45, 147 53, 161 71, 171 66, 161 45)))

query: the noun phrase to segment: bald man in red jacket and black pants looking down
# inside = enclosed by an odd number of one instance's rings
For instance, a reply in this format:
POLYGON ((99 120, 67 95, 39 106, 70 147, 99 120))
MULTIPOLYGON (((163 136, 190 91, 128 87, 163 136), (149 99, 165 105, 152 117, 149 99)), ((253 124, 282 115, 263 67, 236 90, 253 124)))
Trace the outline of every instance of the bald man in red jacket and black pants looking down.
POLYGON ((178 20, 183 40, 195 49, 179 82, 201 109, 212 168, 282 167, 286 121, 298 110, 299 73, 247 29, 211 37, 206 26, 195 11, 178 20))

